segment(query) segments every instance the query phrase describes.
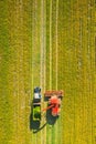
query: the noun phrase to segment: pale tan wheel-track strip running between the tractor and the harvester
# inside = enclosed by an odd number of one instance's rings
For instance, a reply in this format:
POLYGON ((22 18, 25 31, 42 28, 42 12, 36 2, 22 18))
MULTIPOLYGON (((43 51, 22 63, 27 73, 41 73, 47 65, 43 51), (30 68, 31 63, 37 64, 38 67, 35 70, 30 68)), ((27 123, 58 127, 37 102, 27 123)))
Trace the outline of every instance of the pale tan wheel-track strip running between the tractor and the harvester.
MULTIPOLYGON (((41 1, 41 71, 40 71, 40 85, 42 88, 42 95, 45 91, 45 2, 41 1)), ((44 97, 42 96, 42 101, 44 97)), ((45 103, 42 105, 42 109, 45 107, 45 103)), ((45 124, 45 117, 42 119, 41 126, 45 124)), ((41 131, 41 144, 46 144, 46 126, 41 131), (44 137, 42 136, 44 135, 44 137)))

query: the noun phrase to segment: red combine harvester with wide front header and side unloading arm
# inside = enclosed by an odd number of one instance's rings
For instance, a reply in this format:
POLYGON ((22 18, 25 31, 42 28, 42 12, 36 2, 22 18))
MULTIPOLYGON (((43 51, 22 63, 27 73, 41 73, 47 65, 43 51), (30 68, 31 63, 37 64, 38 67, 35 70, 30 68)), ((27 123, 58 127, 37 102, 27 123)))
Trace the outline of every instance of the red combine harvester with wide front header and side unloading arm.
POLYGON ((63 91, 46 91, 44 93, 45 99, 49 99, 49 106, 43 111, 51 109, 53 116, 58 116, 61 112, 61 100, 63 97, 63 91))

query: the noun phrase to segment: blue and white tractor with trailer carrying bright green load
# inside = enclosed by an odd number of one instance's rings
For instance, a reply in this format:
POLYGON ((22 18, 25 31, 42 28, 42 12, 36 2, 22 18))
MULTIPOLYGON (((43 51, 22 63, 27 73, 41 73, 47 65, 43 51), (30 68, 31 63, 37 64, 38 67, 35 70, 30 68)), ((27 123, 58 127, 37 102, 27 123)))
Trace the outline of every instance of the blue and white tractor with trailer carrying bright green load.
POLYGON ((33 121, 41 121, 41 89, 34 89, 33 121))

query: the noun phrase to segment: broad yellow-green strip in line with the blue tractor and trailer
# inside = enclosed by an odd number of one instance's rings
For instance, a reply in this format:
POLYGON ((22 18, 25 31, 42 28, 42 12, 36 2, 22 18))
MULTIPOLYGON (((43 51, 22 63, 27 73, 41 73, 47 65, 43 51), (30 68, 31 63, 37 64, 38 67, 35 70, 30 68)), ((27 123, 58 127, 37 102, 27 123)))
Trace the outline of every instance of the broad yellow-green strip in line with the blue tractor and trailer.
MULTIPOLYGON (((33 13, 32 13, 32 72, 33 72, 33 89, 40 86, 40 1, 33 1, 33 13)), ((33 133, 33 142, 41 142, 41 132, 33 133)))

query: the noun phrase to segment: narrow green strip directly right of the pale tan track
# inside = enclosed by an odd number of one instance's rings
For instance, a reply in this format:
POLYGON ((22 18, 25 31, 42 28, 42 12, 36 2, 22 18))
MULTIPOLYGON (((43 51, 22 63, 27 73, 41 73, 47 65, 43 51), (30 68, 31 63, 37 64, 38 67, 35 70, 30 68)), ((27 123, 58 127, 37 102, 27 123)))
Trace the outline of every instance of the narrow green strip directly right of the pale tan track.
MULTIPOLYGON (((52 89, 52 0, 46 1, 46 89, 52 89)), ((46 144, 51 144, 52 128, 46 125, 46 144)))

